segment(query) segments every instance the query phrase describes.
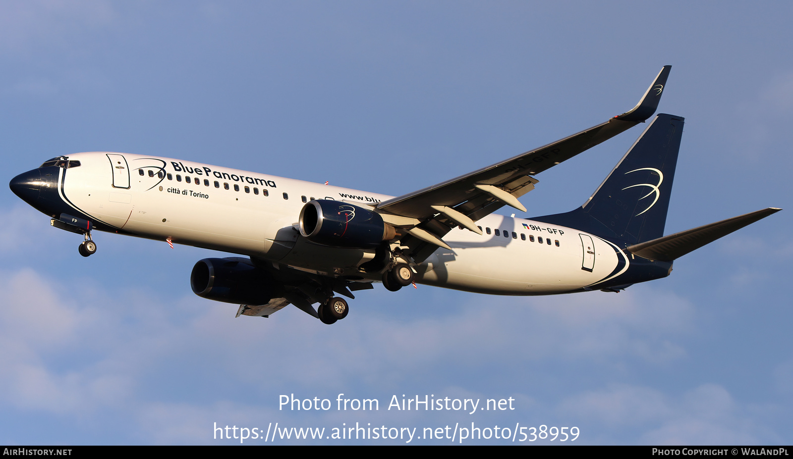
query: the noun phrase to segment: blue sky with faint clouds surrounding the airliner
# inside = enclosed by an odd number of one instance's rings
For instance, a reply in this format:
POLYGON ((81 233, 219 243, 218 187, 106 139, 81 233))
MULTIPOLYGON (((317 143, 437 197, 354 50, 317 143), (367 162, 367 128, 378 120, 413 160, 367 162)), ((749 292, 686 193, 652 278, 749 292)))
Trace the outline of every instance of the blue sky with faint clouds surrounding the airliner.
MULTIPOLYGON (((473 422, 577 426, 586 444, 790 444, 791 10, 3 2, 6 181, 56 155, 123 151, 399 195, 623 113, 671 64, 659 112, 686 128, 666 232, 786 210, 623 293, 378 286, 328 327, 292 307, 235 318, 193 295, 193 263, 215 252, 99 233, 82 258, 77 235, 3 189, 0 443, 473 422), (381 410, 279 411, 292 393, 377 398, 381 410), (515 410, 387 411, 402 394, 512 397, 515 410)), ((638 129, 539 174, 523 216, 581 205, 638 129)))

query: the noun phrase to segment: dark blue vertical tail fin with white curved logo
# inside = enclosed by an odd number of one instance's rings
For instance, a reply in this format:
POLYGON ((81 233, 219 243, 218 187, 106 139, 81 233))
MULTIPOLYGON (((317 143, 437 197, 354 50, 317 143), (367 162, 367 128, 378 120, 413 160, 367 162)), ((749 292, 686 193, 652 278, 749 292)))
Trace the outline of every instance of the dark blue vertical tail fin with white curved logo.
POLYGON ((683 117, 658 114, 580 208, 531 220, 635 244, 664 235, 683 117))

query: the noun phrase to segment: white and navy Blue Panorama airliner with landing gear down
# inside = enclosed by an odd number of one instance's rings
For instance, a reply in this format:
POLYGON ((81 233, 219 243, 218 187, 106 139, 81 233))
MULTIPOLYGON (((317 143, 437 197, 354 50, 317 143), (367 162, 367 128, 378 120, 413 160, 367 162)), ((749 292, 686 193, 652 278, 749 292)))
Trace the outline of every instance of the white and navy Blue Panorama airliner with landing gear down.
POLYGON ((780 210, 664 235, 684 126, 683 117, 653 117, 670 69, 626 113, 398 197, 106 151, 49 159, 10 188, 52 226, 82 235, 82 256, 97 251, 94 230, 238 254, 202 259, 190 274, 193 293, 239 304, 238 317, 294 304, 335 323, 349 312, 341 296, 376 283, 497 295, 619 292, 667 277, 676 258, 780 210), (534 176, 646 120, 584 205, 531 219, 494 213, 526 212, 518 198, 534 189, 534 176))

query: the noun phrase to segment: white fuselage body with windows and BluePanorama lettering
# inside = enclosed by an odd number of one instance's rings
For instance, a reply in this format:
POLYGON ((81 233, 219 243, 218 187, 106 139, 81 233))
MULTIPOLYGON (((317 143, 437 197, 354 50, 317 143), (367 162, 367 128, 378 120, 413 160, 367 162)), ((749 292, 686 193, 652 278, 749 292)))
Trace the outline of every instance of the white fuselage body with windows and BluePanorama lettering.
MULTIPOLYGON (((315 198, 374 205, 391 196, 178 159, 105 152, 69 159, 81 166, 61 170, 61 197, 119 230, 377 280, 356 269, 374 251, 320 246, 294 225, 305 202, 315 198)), ((615 268, 625 256, 614 244, 573 228, 495 214, 477 225, 485 234, 454 228, 443 236, 452 250, 435 251, 416 268, 416 281, 479 293, 565 293, 619 275, 615 268)))

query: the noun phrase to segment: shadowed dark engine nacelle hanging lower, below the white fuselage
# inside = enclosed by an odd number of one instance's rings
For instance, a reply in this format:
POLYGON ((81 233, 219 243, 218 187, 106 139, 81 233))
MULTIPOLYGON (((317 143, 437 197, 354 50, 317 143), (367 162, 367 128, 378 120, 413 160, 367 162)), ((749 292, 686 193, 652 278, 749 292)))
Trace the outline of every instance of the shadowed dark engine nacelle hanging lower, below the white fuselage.
POLYGON ((190 273, 193 293, 226 303, 267 304, 278 284, 263 270, 233 258, 204 258, 190 273))

